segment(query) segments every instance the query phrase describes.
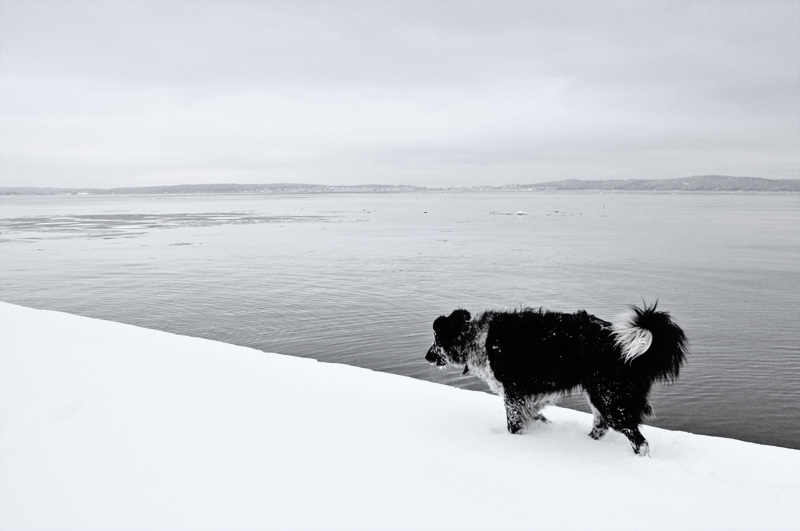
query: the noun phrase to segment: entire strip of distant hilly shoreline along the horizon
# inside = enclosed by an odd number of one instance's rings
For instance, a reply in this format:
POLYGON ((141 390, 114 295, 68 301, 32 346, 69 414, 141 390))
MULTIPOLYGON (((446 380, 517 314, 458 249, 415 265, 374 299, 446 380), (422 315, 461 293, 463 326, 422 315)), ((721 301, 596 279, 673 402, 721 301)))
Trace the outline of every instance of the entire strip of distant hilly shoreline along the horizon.
POLYGON ((581 181, 568 179, 534 184, 426 188, 407 185, 364 184, 330 186, 323 184, 178 184, 126 188, 35 188, 0 187, 0 195, 123 195, 123 194, 292 194, 292 193, 397 193, 422 191, 530 191, 530 190, 620 190, 631 192, 800 192, 800 179, 761 179, 697 175, 678 179, 628 179, 581 181))

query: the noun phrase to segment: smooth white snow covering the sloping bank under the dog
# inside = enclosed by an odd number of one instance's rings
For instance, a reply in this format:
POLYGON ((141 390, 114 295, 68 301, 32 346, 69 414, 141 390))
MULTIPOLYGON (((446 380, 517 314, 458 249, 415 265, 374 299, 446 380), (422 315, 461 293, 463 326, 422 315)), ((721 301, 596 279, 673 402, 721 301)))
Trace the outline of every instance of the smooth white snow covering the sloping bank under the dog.
POLYGON ((546 415, 0 303, 0 528, 800 529, 800 451, 546 415))

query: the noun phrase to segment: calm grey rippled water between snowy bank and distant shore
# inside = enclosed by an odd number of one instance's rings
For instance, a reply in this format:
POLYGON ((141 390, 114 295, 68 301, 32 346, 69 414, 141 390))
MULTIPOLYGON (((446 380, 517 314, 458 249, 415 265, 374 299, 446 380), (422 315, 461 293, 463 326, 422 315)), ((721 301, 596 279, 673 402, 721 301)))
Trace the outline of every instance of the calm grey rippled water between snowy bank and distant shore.
POLYGON ((0 232, 3 301, 468 389, 439 315, 658 299, 691 351, 648 423, 800 448, 796 194, 4 196, 0 232))

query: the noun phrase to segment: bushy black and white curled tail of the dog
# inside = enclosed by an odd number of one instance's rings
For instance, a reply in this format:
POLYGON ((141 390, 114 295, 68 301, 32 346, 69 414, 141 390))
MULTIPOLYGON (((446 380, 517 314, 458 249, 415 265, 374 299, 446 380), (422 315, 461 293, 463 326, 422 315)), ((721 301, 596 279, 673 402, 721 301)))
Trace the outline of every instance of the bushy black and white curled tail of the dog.
POLYGON ((644 308, 630 306, 613 324, 622 360, 647 373, 652 380, 672 382, 686 360, 688 340, 667 312, 656 311, 658 302, 644 308))

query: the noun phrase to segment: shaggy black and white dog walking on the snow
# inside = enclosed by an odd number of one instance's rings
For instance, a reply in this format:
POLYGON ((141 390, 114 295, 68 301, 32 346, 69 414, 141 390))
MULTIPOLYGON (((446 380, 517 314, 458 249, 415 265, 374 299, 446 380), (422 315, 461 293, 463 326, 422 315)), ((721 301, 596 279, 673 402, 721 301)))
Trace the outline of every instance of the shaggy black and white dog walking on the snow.
POLYGON ((599 439, 614 429, 639 455, 649 454, 639 425, 652 414, 650 388, 678 377, 688 346, 683 330, 655 304, 631 306, 614 324, 585 311, 487 311, 472 319, 456 310, 436 319, 433 331, 425 359, 464 367, 486 382, 503 397, 509 432, 548 422, 539 411, 582 388, 594 413, 589 435, 599 439))

